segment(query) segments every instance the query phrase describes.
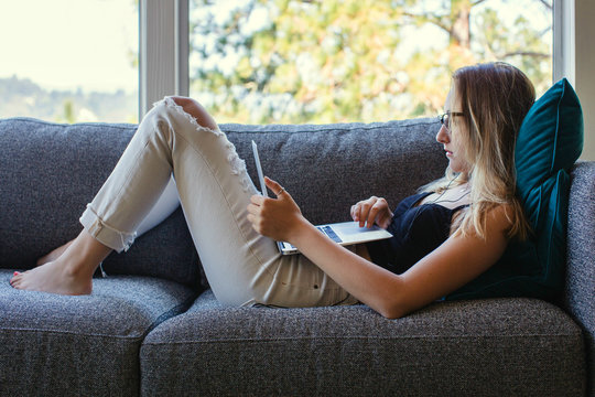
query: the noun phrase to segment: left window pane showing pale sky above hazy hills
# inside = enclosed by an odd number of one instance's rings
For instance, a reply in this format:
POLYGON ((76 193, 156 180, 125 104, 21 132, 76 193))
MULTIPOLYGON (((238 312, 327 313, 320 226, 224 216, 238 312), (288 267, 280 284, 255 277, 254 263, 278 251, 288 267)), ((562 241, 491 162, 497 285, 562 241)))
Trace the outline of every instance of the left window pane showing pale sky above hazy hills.
POLYGON ((132 0, 0 3, 0 117, 138 120, 138 6, 132 0))

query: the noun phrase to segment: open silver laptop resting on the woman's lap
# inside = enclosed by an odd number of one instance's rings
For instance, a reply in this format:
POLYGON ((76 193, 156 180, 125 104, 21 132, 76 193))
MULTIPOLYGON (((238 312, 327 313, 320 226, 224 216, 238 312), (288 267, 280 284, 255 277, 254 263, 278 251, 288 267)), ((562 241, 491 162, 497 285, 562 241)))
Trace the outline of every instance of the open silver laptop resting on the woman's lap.
MULTIPOLYGON (((260 165, 260 158, 258 155, 258 146, 255 141, 252 141, 252 152, 260 182, 260 194, 268 197, 269 194, 267 193, 267 185, 264 184, 264 174, 262 173, 262 167, 260 165)), ((359 227, 359 222, 354 221, 318 225, 316 228, 324 235, 328 236, 333 242, 342 246, 350 246, 392 237, 389 232, 385 230, 378 225, 374 225, 370 228, 359 227)), ((300 253, 298 248, 286 242, 277 242, 277 246, 279 251, 283 255, 293 255, 300 253)))

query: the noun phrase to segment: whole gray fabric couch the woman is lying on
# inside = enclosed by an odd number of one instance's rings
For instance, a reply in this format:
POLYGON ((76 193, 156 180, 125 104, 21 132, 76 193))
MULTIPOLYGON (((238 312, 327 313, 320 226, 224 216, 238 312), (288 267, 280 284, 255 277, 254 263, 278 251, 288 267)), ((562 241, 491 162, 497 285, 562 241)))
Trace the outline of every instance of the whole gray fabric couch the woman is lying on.
MULTIPOLYGON (((440 178, 435 119, 221 125, 314 223, 391 205, 440 178)), ((74 238, 134 125, 0 120, 0 395, 595 396, 595 162, 571 173, 565 290, 553 301, 436 302, 399 320, 364 304, 229 308, 177 208, 104 262, 90 296, 19 291, 14 270, 74 238)))

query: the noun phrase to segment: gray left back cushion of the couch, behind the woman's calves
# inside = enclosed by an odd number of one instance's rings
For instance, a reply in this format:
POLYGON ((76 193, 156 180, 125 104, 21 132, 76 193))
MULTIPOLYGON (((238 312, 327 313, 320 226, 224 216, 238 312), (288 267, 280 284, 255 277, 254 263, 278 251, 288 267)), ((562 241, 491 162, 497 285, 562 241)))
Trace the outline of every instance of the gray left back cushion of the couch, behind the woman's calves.
MULTIPOLYGON (((0 268, 28 269, 76 237, 78 222, 118 162, 136 126, 0 120, 0 268)), ((108 273, 155 276, 188 286, 198 280, 194 244, 178 208, 122 254, 108 273)))

